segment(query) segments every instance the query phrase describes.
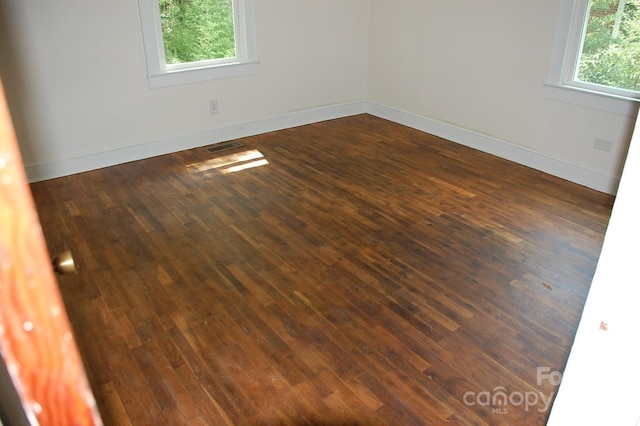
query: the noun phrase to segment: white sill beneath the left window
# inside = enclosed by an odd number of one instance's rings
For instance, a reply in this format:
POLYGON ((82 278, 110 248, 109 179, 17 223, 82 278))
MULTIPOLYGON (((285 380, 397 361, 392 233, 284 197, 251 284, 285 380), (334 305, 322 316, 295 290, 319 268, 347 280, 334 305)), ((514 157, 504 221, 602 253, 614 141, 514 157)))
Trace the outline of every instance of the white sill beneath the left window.
POLYGON ((209 66, 204 68, 191 68, 165 71, 160 74, 149 75, 149 87, 169 87, 180 84, 199 83, 219 78, 237 77, 241 75, 255 74, 258 72, 258 62, 242 62, 209 66))

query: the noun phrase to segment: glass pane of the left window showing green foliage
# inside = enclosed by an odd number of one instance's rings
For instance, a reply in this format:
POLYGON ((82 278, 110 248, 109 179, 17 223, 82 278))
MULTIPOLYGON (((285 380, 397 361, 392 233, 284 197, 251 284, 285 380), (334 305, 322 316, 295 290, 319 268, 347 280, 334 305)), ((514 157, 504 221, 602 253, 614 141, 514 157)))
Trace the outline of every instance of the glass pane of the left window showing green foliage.
POLYGON ((232 0, 160 0, 167 64, 236 57, 232 0))

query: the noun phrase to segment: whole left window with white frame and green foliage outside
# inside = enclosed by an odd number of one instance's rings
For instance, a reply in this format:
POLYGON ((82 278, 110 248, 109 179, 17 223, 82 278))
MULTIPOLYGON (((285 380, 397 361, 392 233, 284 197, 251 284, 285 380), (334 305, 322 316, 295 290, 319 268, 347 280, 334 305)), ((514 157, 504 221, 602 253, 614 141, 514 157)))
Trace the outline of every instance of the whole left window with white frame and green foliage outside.
POLYGON ((253 0, 138 0, 151 87, 257 71, 253 0))

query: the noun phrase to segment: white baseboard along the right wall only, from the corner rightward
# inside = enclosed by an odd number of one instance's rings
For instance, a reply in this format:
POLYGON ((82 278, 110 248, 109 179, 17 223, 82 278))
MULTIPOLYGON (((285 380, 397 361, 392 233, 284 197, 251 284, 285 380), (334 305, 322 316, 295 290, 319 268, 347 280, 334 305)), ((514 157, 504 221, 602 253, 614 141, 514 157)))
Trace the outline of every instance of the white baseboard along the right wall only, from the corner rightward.
POLYGON ((524 146, 375 102, 367 103, 367 113, 514 161, 531 167, 532 169, 540 170, 607 194, 615 194, 620 183, 618 177, 606 175, 580 164, 555 158, 524 146))

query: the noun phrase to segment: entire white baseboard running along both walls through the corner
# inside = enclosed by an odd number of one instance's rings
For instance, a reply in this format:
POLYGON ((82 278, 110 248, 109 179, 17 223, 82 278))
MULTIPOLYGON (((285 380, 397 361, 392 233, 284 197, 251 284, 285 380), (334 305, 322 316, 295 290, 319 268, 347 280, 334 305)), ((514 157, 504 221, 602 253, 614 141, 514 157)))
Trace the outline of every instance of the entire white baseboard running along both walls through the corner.
POLYGON ((601 192, 615 194, 618 188, 619 178, 617 177, 608 176, 585 166, 452 124, 368 101, 306 109, 192 134, 170 136, 137 145, 117 147, 108 151, 27 165, 25 170, 29 181, 37 182, 218 142, 364 113, 506 158, 601 192))

